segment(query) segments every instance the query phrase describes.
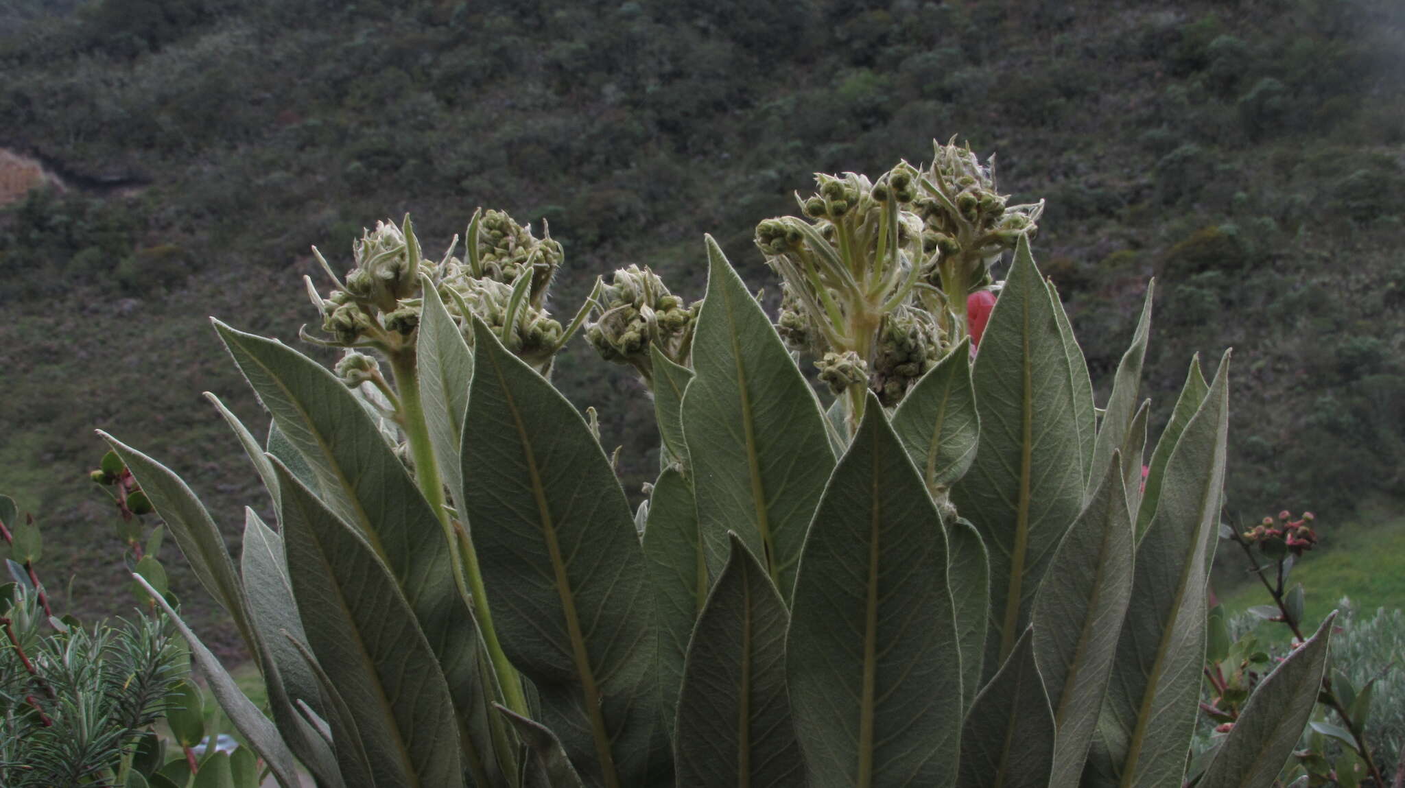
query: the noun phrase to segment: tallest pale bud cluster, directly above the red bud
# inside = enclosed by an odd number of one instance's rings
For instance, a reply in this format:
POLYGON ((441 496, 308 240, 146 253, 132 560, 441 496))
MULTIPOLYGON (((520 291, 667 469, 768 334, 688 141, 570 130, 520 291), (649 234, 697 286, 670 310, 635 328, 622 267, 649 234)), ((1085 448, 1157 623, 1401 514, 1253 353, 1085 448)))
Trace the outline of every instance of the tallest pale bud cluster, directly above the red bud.
MULTIPOLYGON (((913 204, 922 216, 923 249, 937 250, 946 263, 939 274, 961 280, 967 289, 991 282, 989 268, 1003 251, 1014 249, 1020 236, 1038 230, 1044 201, 1009 205, 1009 195, 995 187, 995 157, 982 164, 969 146, 961 147, 953 139, 948 145, 934 145, 932 167, 923 173, 923 192, 913 204)), ((939 282, 947 298, 955 294, 950 285, 939 282)))

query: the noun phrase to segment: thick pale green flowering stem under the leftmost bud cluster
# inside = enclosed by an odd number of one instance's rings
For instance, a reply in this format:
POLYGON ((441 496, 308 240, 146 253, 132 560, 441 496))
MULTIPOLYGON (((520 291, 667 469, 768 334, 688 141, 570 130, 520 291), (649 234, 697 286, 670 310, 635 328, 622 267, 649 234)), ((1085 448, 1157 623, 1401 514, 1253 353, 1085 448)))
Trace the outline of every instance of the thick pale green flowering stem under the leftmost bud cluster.
POLYGON ((438 462, 434 459, 434 448, 430 444, 429 424, 424 421, 424 409, 420 405, 420 385, 416 374, 416 353, 413 347, 403 347, 391 353, 391 371, 395 374, 395 388, 399 393, 399 423, 410 444, 410 457, 414 461, 414 480, 424 493, 424 499, 434 508, 434 516, 444 525, 444 535, 450 545, 459 553, 461 566, 455 569, 455 580, 459 591, 464 593, 473 605, 473 618, 483 635, 488 646, 488 656, 493 660, 493 670, 503 688, 503 700, 507 708, 527 715, 527 698, 523 695, 521 678, 517 669, 507 660, 502 645, 497 642, 497 632, 493 629, 493 615, 488 608, 488 591, 483 586, 483 574, 478 567, 478 553, 473 552, 473 542, 468 531, 450 520, 448 510, 444 508, 444 480, 440 476, 438 462))

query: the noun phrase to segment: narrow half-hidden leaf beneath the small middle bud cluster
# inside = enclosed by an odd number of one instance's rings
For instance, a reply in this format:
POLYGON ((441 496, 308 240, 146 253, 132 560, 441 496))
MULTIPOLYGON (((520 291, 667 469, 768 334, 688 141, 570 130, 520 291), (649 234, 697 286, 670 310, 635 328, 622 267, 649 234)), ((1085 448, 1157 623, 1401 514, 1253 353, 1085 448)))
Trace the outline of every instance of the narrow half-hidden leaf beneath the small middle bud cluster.
POLYGON ((659 691, 670 732, 677 716, 679 685, 688 638, 707 601, 708 573, 693 487, 676 469, 665 471, 649 497, 643 556, 659 628, 659 691))

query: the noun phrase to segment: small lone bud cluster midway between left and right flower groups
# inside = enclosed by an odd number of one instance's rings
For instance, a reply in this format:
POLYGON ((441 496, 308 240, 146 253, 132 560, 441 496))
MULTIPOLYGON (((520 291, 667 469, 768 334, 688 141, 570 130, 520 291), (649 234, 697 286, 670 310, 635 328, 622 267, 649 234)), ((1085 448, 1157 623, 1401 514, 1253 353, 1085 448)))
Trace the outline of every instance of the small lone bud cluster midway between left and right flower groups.
POLYGON ((586 339, 606 361, 629 364, 651 379, 651 344, 679 364, 687 361, 698 306, 686 306, 649 268, 620 268, 610 284, 601 281, 586 339))

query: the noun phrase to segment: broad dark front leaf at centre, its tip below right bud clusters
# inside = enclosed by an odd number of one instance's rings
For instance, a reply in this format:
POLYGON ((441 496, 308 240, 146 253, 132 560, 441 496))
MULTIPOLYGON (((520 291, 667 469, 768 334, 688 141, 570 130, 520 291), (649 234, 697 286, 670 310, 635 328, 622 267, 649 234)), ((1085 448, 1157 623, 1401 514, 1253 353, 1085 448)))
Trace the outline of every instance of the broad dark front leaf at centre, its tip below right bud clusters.
POLYGON ((815 511, 785 641, 815 787, 950 785, 961 656, 941 516, 871 393, 815 511))

